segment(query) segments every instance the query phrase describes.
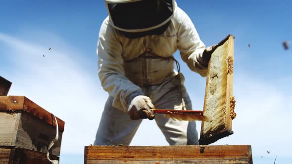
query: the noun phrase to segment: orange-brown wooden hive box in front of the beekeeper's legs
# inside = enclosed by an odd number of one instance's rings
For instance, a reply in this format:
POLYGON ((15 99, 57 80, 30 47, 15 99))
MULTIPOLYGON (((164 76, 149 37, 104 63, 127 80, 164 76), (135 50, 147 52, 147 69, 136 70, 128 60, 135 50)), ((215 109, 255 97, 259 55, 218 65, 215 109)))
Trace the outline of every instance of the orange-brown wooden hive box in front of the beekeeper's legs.
POLYGON ((85 164, 252 164, 251 146, 87 146, 85 164))

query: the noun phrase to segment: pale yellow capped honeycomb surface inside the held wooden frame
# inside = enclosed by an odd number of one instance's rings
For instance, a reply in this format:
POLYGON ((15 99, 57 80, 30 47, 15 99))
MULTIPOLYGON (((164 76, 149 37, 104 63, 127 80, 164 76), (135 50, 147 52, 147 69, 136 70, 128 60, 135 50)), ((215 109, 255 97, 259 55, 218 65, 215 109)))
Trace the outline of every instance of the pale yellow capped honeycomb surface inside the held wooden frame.
POLYGON ((227 57, 222 55, 227 54, 225 51, 228 48, 225 46, 226 43, 217 47, 210 60, 204 112, 213 116, 213 121, 204 123, 204 135, 213 134, 225 128, 228 72, 227 57))

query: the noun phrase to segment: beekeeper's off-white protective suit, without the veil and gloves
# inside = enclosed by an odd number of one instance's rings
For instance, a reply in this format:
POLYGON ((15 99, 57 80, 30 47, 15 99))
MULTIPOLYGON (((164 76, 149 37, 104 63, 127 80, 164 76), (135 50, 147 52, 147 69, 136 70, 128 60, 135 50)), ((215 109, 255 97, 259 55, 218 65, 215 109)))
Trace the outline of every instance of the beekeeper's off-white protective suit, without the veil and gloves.
MULTIPOLYGON (((129 96, 148 96, 156 109, 192 109, 184 77, 174 70, 172 55, 177 49, 192 71, 206 76, 205 45, 189 16, 177 6, 162 35, 129 39, 110 25, 109 17, 103 21, 97 44, 98 76, 109 97, 95 145, 130 144, 142 119, 131 120, 127 114, 129 96)), ((155 121, 170 145, 198 144, 195 122, 161 114, 155 114, 155 121)))

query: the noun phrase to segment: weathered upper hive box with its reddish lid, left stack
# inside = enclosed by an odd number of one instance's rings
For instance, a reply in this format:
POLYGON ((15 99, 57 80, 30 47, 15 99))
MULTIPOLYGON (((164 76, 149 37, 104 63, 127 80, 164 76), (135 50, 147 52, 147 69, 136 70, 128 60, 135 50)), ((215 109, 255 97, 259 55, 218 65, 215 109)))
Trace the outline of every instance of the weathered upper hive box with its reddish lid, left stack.
MULTIPOLYGON (((60 155, 64 122, 57 118, 59 138, 50 154, 60 155)), ((0 148, 47 153, 56 135, 54 116, 25 96, 0 96, 0 148)))

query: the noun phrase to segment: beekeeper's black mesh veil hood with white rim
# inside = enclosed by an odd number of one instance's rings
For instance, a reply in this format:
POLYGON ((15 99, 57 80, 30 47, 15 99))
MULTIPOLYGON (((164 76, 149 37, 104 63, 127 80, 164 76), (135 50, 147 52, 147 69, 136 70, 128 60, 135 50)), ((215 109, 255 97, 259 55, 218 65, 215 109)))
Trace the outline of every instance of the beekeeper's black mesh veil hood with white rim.
POLYGON ((169 23, 175 0, 104 0, 111 25, 122 32, 138 33, 169 23))

